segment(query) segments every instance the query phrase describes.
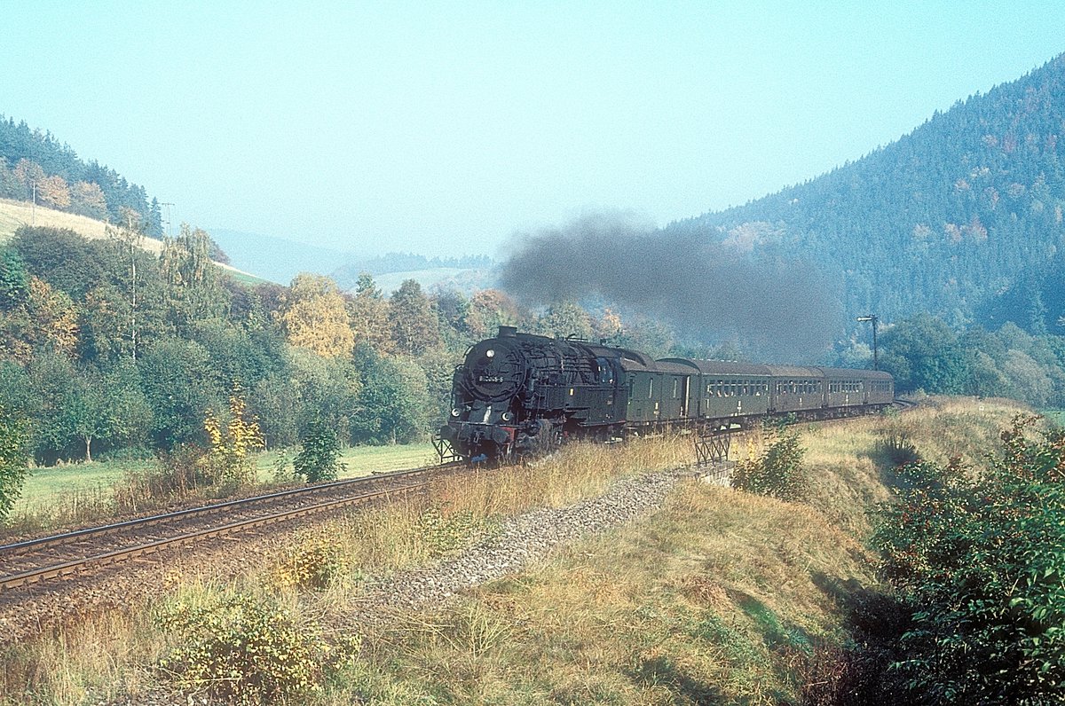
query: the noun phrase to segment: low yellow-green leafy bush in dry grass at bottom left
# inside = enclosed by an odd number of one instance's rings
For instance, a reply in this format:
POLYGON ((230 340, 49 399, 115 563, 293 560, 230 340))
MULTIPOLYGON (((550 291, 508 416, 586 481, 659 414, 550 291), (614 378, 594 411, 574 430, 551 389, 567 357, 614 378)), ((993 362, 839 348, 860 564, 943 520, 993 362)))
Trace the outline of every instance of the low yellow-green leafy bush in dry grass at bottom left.
POLYGON ((346 658, 313 624, 244 593, 179 601, 160 613, 171 647, 160 668, 179 688, 237 704, 302 703, 346 658))

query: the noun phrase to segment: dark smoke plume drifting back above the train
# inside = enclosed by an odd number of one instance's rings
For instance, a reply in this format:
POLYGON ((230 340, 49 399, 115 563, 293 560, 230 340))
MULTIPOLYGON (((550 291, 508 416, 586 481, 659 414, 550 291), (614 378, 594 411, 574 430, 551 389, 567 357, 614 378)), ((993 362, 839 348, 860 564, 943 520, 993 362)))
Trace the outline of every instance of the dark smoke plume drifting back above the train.
POLYGON ((815 267, 770 249, 585 217, 519 236, 501 283, 527 302, 595 297, 666 317, 686 338, 738 340, 764 360, 815 362, 840 333, 839 297, 815 267))

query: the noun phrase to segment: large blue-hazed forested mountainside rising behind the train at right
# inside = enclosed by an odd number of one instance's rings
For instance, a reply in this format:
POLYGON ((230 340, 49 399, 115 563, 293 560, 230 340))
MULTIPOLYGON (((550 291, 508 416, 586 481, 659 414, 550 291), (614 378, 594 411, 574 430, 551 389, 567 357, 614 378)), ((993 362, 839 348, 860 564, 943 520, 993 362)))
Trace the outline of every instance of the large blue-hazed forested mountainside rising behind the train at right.
POLYGON ((1065 54, 857 162, 666 230, 818 263, 851 321, 928 311, 1039 333, 1065 315, 1063 207, 1065 54))

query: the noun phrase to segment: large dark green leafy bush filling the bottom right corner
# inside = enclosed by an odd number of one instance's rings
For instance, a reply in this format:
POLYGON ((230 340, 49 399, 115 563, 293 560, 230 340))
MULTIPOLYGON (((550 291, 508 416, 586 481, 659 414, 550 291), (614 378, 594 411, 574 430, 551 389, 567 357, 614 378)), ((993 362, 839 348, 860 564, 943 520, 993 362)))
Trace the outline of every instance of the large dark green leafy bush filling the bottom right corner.
POLYGON ((910 609, 894 669, 912 703, 1065 702, 1065 432, 1033 418, 986 472, 899 471, 875 542, 910 609))

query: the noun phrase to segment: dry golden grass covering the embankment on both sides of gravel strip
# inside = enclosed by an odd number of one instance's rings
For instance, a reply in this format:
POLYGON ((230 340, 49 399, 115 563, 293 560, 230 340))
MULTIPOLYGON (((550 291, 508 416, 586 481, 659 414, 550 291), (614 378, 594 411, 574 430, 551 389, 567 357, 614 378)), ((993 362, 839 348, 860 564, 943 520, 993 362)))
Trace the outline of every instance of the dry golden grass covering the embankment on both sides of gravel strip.
MULTIPOLYGON (((502 516, 595 497, 613 479, 691 459, 681 437, 574 445, 517 472, 279 537, 235 577, 204 567, 131 597, 126 611, 9 646, 0 692, 6 703, 60 704, 174 693, 178 672, 166 659, 179 645, 160 615, 243 605, 274 611, 272 640, 309 636, 290 645, 314 661, 291 703, 838 703, 833 694, 850 678, 842 656, 886 591, 867 546, 872 513, 890 497, 885 440, 980 464, 1020 411, 932 399, 903 414, 802 425, 805 502, 682 481, 660 510, 524 571, 443 605, 353 624, 370 577, 454 556, 502 516), (299 580, 308 575, 317 579, 299 580), (171 671, 160 669, 167 663, 171 671)), ((757 454, 758 444, 752 436, 734 449, 757 454)))

